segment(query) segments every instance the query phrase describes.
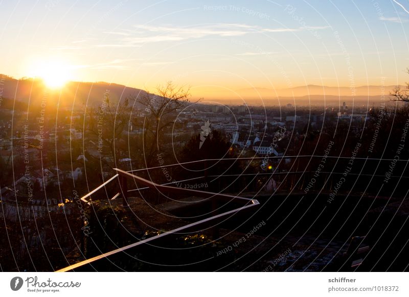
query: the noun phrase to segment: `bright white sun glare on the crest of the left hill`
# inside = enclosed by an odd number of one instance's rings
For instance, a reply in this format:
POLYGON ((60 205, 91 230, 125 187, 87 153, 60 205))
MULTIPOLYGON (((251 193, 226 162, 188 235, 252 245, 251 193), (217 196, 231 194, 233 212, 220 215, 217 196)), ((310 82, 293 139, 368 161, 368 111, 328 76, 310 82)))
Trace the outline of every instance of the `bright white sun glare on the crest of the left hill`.
POLYGON ((68 65, 58 60, 37 62, 33 72, 35 77, 52 89, 63 87, 70 79, 68 65))

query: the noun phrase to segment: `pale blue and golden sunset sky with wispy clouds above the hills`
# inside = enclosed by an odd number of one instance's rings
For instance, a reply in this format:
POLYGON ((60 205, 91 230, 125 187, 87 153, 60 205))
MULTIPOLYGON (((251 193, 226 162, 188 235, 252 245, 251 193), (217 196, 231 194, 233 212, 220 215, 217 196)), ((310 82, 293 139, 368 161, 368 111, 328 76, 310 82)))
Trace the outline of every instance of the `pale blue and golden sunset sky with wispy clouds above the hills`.
POLYGON ((52 64, 44 76, 197 96, 409 81, 409 0, 0 0, 0 19, 14 78, 52 64))

